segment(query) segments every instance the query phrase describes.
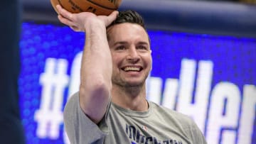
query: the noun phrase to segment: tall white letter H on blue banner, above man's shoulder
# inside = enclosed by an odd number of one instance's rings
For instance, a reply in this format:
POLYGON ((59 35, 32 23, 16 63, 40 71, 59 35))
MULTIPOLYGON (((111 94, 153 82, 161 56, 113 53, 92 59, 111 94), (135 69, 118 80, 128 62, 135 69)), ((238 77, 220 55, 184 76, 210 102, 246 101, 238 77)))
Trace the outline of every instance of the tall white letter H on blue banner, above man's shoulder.
POLYGON ((211 61, 199 61, 198 77, 196 77, 196 61, 182 60, 180 87, 178 94, 177 111, 191 116, 197 122, 201 131, 204 131, 208 98, 212 80, 213 63, 211 61), (195 89, 194 102, 193 89, 195 89))

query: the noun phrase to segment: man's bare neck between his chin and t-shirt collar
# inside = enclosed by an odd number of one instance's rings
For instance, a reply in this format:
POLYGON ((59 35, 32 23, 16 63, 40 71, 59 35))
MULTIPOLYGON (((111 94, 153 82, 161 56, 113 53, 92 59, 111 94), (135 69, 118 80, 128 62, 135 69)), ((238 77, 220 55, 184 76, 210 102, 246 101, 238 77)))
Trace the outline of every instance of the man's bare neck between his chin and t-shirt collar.
POLYGON ((146 111, 146 87, 120 87, 113 84, 112 102, 124 109, 133 111, 146 111))

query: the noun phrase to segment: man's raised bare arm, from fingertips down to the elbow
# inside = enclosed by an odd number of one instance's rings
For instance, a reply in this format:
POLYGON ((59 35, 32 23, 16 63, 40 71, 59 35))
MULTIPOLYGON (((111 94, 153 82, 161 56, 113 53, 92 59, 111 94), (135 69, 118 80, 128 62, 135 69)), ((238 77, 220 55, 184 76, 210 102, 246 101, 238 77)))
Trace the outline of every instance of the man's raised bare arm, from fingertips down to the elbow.
POLYGON ((93 13, 69 13, 57 6, 59 20, 73 28, 85 31, 85 48, 80 72, 80 106, 95 123, 105 115, 112 88, 112 57, 107 43, 106 27, 114 21, 117 11, 110 16, 93 13))

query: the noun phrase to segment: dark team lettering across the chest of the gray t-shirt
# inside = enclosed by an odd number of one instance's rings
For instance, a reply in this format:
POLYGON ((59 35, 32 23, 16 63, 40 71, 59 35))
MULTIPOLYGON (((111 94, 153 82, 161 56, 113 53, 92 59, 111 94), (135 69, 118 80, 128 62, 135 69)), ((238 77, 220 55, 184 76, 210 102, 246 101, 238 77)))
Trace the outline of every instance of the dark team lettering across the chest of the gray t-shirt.
MULTIPOLYGON (((144 131, 148 131, 148 128, 146 126, 142 126, 142 129, 144 131)), ((126 124, 125 132, 128 138, 131 140, 131 144, 182 144, 180 140, 174 140, 171 138, 166 140, 159 140, 153 135, 146 136, 138 128, 128 124, 126 124)))

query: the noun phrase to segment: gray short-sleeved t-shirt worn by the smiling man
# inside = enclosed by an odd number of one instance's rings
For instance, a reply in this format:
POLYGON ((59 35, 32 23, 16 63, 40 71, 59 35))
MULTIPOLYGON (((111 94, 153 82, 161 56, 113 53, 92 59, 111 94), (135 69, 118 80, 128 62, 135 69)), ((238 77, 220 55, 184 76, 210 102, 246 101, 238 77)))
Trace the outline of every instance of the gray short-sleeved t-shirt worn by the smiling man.
POLYGON ((78 93, 64 110, 64 126, 72 144, 204 144, 191 118, 149 102, 148 111, 123 109, 112 102, 97 125, 83 113, 78 93))

